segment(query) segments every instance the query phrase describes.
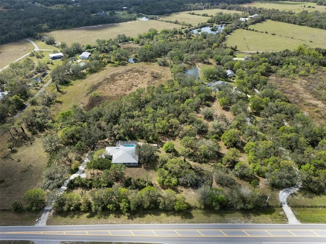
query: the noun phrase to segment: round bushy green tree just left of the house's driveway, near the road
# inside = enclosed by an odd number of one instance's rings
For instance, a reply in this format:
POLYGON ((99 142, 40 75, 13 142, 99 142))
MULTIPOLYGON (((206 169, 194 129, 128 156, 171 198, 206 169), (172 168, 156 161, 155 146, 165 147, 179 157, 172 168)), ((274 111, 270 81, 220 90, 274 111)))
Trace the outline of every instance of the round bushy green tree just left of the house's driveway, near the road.
POLYGON ((42 189, 35 188, 25 192, 22 200, 27 210, 35 210, 45 204, 46 193, 42 189))

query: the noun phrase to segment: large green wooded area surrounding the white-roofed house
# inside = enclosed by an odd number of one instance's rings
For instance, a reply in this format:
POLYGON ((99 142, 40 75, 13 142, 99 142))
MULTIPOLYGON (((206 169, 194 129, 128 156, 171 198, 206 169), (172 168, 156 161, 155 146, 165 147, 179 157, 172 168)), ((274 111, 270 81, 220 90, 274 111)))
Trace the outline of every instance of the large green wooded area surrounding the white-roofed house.
MULTIPOLYGON (((230 20, 232 16, 220 13, 209 21, 230 20)), ((291 104, 270 77, 322 74, 326 67, 325 50, 299 46, 295 50, 256 53, 247 60, 234 60, 236 47, 227 47, 224 41, 237 25, 235 20, 216 35, 193 35, 191 29, 165 29, 158 33, 152 28, 133 39, 138 45, 133 49, 122 47, 122 42, 132 40, 126 35, 97 40, 94 46, 77 42, 70 47, 62 44, 65 58, 50 74, 56 91, 44 92, 31 100, 32 109, 18 123, 4 119, 6 124, 2 128, 13 138, 28 140, 32 135, 42 135, 44 150, 49 153, 43 190, 26 192, 22 200, 28 204, 22 206, 14 201, 12 209, 42 206, 44 191, 61 187, 89 150, 95 150, 87 164, 91 177, 70 181, 68 192, 56 201, 56 210, 126 213, 137 209, 181 211, 195 207, 176 193, 180 186, 196 190, 196 207, 252 209, 266 204, 266 196, 259 189, 262 181, 271 189, 302 182, 303 191, 324 194, 326 127, 291 104), (75 57, 81 51, 92 52, 84 68, 75 57), (138 88, 126 97, 88 110, 75 105, 51 115, 57 93, 71 80, 85 78, 107 65, 126 65, 130 56, 169 67, 173 79, 138 88), (211 65, 212 62, 213 66, 203 72, 202 79, 184 73, 186 64, 211 65), (227 77, 226 70, 233 70, 236 77, 227 77), (206 85, 220 79, 227 85, 219 85, 214 90, 206 85), (234 119, 216 115, 212 107, 216 100, 234 119), (96 145, 104 139, 144 142, 138 146, 137 154, 143 167, 155 170, 158 186, 146 174, 137 178, 125 176, 125 166, 102 159, 103 150, 98 151, 96 145), (176 139, 180 141, 177 149, 176 139), (157 143, 164 152, 158 153, 146 143, 157 143), (225 154, 221 153, 222 143, 228 149, 225 154), (242 154, 246 154, 245 160, 241 159, 242 154), (194 163, 212 170, 204 170, 194 163), (212 187, 213 181, 218 188, 212 187), (83 194, 73 192, 75 189, 83 194)), ((47 65, 35 66, 33 60, 26 58, 2 72, 1 83, 10 93, 1 100, 3 116, 23 106, 23 100, 30 97, 28 78, 36 69, 45 72, 47 65)), ((325 102, 324 84, 314 83, 314 86, 316 96, 325 102)), ((13 147, 8 145, 10 150, 13 147)))

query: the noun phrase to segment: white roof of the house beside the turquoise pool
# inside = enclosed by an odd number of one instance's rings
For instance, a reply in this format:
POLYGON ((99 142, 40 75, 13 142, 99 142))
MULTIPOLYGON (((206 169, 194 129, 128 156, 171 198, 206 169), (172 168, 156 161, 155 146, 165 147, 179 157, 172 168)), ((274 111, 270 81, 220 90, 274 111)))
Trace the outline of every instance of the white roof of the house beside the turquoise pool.
POLYGON ((135 146, 108 146, 105 153, 112 156, 112 163, 126 164, 138 163, 138 156, 135 154, 135 146))

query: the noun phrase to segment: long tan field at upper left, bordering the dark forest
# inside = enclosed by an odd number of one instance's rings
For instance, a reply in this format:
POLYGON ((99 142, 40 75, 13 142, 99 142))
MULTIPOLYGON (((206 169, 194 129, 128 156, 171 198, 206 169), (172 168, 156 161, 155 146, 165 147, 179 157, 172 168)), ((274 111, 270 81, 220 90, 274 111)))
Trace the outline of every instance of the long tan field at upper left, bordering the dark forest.
POLYGON ((161 29, 180 28, 178 24, 167 23, 157 20, 148 21, 131 21, 117 24, 103 24, 96 26, 85 26, 72 29, 64 29, 45 33, 46 37, 54 37, 57 42, 66 42, 68 46, 73 42, 80 44, 95 44, 97 39, 115 38, 118 34, 125 34, 129 37, 137 37, 139 34, 148 32, 150 28, 155 28, 158 31, 161 29))

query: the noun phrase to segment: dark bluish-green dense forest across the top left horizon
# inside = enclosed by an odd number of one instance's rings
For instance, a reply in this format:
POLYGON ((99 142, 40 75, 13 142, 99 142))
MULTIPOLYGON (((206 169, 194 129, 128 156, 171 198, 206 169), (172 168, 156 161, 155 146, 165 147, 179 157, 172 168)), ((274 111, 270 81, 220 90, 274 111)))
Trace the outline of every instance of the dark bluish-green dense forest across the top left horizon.
MULTIPOLYGON (((242 2, 243 0, 239 0, 239 3, 242 2)), ((19 41, 26 37, 37 38, 40 33, 56 29, 135 20, 139 16, 137 13, 158 15, 178 11, 209 9, 216 4, 216 1, 106 0, 78 1, 77 3, 58 0, 39 1, 38 3, 40 5, 20 0, 2 1, 5 11, 1 11, 1 44, 19 41), (58 7, 58 5, 61 7, 58 7), (115 11, 121 11, 123 7, 127 7, 128 13, 115 13, 115 11), (99 11, 107 12, 107 14, 98 15, 99 11)), ((220 3, 220 1, 217 3, 220 3)))

